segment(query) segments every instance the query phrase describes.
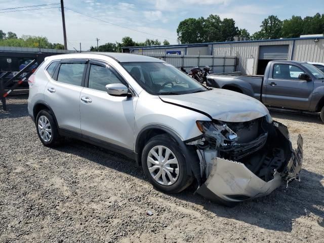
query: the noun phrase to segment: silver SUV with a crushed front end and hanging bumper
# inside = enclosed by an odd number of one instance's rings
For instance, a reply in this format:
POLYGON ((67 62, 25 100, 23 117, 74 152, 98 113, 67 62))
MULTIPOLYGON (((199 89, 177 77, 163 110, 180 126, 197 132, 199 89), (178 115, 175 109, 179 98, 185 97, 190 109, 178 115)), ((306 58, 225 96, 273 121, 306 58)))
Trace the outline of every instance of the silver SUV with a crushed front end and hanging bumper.
POLYGON ((28 80, 39 139, 77 138, 136 160, 157 189, 197 192, 226 205, 298 178, 302 138, 236 92, 206 88, 169 63, 120 53, 46 58, 28 80))

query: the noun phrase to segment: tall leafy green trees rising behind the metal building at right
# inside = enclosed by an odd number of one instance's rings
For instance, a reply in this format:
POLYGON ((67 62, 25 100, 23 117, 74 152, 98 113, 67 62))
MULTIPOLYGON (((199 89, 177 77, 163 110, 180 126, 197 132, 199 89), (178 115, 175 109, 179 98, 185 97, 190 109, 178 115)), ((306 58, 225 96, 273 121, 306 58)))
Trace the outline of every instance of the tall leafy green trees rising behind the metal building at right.
POLYGON ((177 34, 182 44, 230 42, 234 36, 246 37, 251 40, 277 39, 299 37, 302 34, 323 34, 324 14, 315 14, 302 18, 292 16, 281 21, 277 16, 270 15, 265 18, 260 30, 252 35, 247 29, 239 29, 231 18, 223 20, 218 15, 211 14, 206 19, 187 18, 182 20, 177 28, 177 34))

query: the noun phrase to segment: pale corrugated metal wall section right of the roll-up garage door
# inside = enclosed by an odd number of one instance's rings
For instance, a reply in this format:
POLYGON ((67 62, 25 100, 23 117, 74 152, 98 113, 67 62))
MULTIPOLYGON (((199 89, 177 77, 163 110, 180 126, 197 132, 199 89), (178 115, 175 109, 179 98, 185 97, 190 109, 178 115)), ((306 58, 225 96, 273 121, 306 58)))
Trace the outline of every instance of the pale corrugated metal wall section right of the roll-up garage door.
POLYGON ((296 40, 293 60, 324 63, 324 39, 296 40))

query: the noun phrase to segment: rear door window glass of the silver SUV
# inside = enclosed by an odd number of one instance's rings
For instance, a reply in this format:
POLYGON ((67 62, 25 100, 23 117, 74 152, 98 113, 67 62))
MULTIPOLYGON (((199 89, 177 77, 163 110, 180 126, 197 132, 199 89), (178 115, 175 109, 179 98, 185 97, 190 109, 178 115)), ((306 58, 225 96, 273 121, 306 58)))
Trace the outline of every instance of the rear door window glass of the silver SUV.
POLYGON ((57 81, 69 85, 81 86, 82 75, 86 65, 86 63, 62 63, 57 81))

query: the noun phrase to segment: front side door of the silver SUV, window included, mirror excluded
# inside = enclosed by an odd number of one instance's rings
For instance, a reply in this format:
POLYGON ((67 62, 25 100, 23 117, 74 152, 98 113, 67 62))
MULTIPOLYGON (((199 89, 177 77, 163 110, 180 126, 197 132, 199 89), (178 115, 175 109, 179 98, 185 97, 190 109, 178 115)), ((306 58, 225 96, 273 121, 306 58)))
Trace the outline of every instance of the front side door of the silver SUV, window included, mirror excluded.
POLYGON ((111 96, 105 89, 108 84, 120 83, 126 82, 110 65, 90 61, 80 95, 81 130, 88 139, 133 150, 137 97, 111 96))

